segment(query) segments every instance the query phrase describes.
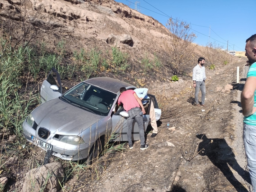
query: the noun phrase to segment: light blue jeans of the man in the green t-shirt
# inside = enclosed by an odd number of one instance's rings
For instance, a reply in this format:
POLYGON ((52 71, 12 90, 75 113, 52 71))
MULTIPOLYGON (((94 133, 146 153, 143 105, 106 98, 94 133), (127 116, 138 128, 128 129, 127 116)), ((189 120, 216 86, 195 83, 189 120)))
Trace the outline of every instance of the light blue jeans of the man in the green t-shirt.
POLYGON ((243 139, 253 191, 256 192, 256 126, 244 123, 243 139))

